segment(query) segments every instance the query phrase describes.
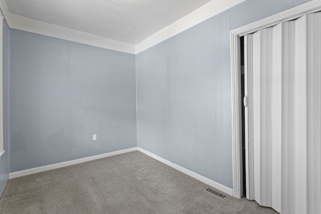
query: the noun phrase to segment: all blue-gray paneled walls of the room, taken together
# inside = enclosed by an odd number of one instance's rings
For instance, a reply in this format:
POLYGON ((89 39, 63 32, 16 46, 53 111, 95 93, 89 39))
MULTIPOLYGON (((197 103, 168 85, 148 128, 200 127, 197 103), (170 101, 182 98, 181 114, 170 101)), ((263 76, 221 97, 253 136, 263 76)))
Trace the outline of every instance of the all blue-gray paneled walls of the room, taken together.
POLYGON ((0 192, 9 168, 137 145, 232 188, 229 31, 305 2, 244 2, 136 61, 4 25, 0 192))

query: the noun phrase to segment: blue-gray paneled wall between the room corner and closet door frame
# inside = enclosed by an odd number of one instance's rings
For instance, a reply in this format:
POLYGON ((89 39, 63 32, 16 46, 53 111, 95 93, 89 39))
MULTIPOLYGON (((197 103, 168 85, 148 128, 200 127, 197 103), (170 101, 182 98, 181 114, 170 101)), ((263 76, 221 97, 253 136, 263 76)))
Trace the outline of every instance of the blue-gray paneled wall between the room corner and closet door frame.
POLYGON ((250 0, 136 55, 137 145, 230 188, 230 30, 307 0, 250 0))

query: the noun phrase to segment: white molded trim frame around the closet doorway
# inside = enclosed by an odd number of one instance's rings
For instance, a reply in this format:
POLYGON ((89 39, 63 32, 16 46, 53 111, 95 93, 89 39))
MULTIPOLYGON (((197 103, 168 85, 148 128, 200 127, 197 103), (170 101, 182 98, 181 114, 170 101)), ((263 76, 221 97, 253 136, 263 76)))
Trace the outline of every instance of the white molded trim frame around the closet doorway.
MULTIPOLYGON (((321 11, 321 0, 313 0, 263 20, 243 26, 230 32, 231 48, 231 92, 232 92, 232 169, 233 169, 233 196, 243 196, 243 170, 242 170, 242 114, 241 104, 241 53, 240 37, 254 33, 260 29, 272 27, 281 22, 297 19, 305 14, 321 11)), ((246 63, 246 62, 245 62, 246 63)), ((246 146, 248 148, 248 146, 246 146)), ((248 151, 246 152, 248 153, 248 151)), ((247 163, 248 157, 245 157, 247 163)), ((246 178, 249 170, 246 167, 246 178)), ((250 181, 247 181, 250 182, 250 181)), ((247 188, 248 191, 249 188, 247 188)), ((248 192, 247 192, 248 194, 248 192)))

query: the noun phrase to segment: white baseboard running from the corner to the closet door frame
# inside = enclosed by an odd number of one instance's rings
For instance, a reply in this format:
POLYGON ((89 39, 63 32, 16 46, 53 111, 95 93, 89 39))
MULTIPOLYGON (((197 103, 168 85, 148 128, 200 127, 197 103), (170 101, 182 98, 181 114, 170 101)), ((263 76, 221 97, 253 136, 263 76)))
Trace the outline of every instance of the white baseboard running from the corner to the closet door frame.
POLYGON ((183 173, 185 173, 187 175, 190 175, 191 177, 194 177, 197 180, 202 181, 203 183, 206 183, 206 184, 208 184, 208 185, 210 185, 210 186, 212 186, 212 187, 214 187, 214 188, 216 188, 216 189, 218 189, 218 190, 220 190, 220 191, 222 191, 222 192, 224 192, 226 194, 229 194, 229 195, 233 196, 233 189, 231 189, 231 188, 229 188, 227 186, 224 186, 224 185, 222 185, 222 184, 220 184, 220 183, 218 183, 218 182, 216 182, 214 180, 211 180, 211 179, 209 179, 207 177, 204 177, 204 176, 202 176, 200 174, 197 174, 197 173, 195 173, 195 172, 193 172, 191 170, 188 170, 188 169, 186 169, 186 168, 184 168, 182 166, 179 166, 179 165, 177 165, 177 164, 175 164, 175 163, 173 163, 173 162, 171 162, 169 160, 164 159, 163 157, 159 157, 159 156, 157 156, 157 155, 155 155, 155 154, 153 154, 153 153, 151 153, 149 151, 146 151, 146 150, 144 150, 144 149, 142 149, 140 147, 138 147, 137 149, 138 149, 138 151, 140 151, 140 152, 142 152, 142 153, 144 153, 144 154, 146 154, 146 155, 148 155, 148 156, 150 156, 150 157, 152 157, 152 158, 154 158, 154 159, 156 159, 158 161, 161 161, 162 163, 165 163, 166 165, 169 165, 169 166, 171 166, 171 167, 173 167, 173 168, 175 168, 175 169, 177 169, 177 170, 179 170, 179 171, 181 171, 181 172, 183 172, 183 173))

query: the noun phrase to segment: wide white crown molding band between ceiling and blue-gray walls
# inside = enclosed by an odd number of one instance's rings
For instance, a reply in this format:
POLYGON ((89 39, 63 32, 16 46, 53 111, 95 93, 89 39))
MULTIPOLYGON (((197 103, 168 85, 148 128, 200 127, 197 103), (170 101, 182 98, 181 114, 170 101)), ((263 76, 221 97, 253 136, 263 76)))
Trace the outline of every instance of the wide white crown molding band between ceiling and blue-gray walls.
POLYGON ((27 31, 129 54, 138 54, 245 1, 246 0, 212 0, 205 6, 181 18, 163 30, 158 31, 154 35, 136 45, 11 14, 5 0, 0 0, 0 9, 9 27, 12 29, 27 31))

